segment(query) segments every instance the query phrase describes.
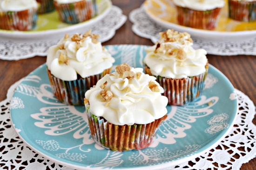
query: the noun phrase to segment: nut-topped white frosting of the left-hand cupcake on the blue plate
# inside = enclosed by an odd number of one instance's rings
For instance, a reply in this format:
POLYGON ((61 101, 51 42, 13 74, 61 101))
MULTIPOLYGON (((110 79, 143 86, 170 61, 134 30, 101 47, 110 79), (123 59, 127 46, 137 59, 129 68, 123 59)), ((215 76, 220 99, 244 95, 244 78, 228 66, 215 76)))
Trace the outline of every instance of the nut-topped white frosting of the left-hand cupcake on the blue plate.
POLYGON ((108 50, 97 41, 98 35, 88 31, 85 34, 68 34, 57 45, 49 48, 47 53, 47 68, 55 77, 65 81, 102 73, 112 67, 115 59, 108 50))

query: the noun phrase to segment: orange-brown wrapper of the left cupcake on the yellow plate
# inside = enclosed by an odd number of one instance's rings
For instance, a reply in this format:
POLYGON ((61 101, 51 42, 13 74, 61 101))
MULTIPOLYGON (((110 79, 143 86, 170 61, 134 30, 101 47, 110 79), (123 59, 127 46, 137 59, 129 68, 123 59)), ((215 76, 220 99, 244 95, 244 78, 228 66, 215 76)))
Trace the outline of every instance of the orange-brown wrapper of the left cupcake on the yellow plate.
POLYGON ((203 30, 214 30, 216 28, 221 11, 221 8, 196 11, 181 6, 176 6, 176 9, 180 25, 203 30))

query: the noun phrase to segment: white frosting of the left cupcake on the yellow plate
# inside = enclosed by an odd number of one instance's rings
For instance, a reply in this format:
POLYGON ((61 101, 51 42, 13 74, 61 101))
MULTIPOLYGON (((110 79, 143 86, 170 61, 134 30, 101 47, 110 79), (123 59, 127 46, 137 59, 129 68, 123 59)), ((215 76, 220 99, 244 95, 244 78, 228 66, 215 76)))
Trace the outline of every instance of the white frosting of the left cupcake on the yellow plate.
POLYGON ((224 0, 173 0, 176 6, 182 6, 197 11, 206 11, 214 8, 222 8, 224 0))

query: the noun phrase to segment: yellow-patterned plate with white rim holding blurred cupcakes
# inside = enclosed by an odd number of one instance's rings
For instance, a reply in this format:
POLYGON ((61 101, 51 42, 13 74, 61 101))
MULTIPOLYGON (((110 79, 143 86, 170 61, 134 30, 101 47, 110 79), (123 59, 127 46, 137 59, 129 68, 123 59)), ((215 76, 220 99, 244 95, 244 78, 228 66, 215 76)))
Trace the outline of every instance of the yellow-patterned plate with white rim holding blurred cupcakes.
POLYGON ((256 22, 245 23, 228 18, 227 0, 222 8, 216 31, 179 25, 176 19, 176 9, 171 0, 146 0, 142 7, 155 23, 166 29, 188 32, 192 38, 207 41, 243 41, 256 38, 256 22))

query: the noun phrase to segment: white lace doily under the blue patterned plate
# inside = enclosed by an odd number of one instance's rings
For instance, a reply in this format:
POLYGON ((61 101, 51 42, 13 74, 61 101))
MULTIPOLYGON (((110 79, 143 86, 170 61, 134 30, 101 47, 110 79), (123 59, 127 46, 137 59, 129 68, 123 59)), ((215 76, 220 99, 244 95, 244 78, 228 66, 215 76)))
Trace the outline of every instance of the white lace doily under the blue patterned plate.
MULTIPOLYGON (((10 100, 15 88, 20 84, 13 84, 8 92, 7 99, 0 102, 0 166, 8 170, 72 170, 40 156, 32 151, 19 139, 10 120, 10 100)), ((236 89, 239 110, 235 125, 232 127, 219 145, 189 162, 169 167, 165 170, 239 170, 241 165, 256 157, 256 126, 252 123, 256 114, 255 106, 249 97, 236 89), (238 155, 239 158, 235 158, 238 155)))

